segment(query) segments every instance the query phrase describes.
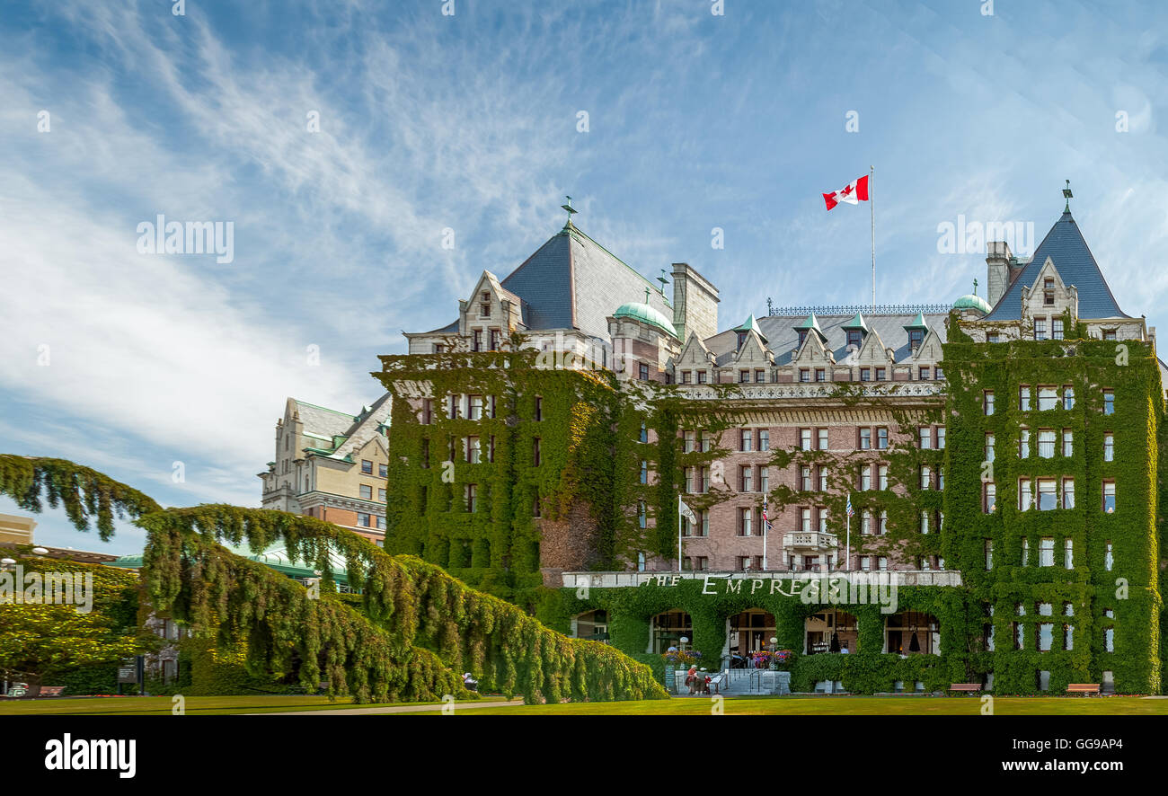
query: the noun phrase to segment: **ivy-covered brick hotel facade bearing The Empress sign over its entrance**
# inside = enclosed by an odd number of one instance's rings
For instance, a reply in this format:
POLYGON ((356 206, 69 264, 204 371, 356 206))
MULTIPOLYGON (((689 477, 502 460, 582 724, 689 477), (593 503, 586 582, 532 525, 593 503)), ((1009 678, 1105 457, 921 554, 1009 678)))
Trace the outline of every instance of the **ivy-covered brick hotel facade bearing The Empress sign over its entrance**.
POLYGON ((659 670, 684 637, 711 669, 792 650, 795 690, 1160 692, 1154 329, 1069 210, 1030 259, 988 250, 992 301, 719 334, 675 265, 672 329, 621 305, 599 355, 534 322, 478 344, 477 312, 527 301, 485 277, 375 373, 399 399, 387 549, 659 670), (869 581, 894 601, 848 600, 869 581))

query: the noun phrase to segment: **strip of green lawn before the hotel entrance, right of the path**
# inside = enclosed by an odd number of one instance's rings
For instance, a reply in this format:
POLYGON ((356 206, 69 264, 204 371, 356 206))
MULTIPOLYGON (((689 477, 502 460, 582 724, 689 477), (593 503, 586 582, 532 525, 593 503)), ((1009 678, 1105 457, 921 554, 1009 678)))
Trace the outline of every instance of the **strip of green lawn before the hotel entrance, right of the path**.
MULTIPOLYGON (((726 715, 979 715, 978 697, 734 697, 726 715)), ((709 715, 705 698, 569 705, 514 705, 466 711, 465 715, 709 715)), ((458 712, 458 708, 454 711, 458 712)), ((404 715, 436 715, 423 711, 404 715)), ((1168 699, 1142 697, 1000 697, 995 715, 1168 715, 1168 699)))

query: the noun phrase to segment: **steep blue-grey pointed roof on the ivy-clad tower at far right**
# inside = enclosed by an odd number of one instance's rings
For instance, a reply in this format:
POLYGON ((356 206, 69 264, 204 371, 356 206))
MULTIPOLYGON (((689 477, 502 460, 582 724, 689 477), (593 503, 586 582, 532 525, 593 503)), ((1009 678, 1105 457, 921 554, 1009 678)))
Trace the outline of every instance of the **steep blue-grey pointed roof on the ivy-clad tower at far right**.
POLYGON ((1079 225, 1070 211, 1047 232, 1034 257, 1022 270, 1022 273, 1010 282, 994 310, 986 316, 987 321, 1022 320, 1022 286, 1031 287, 1047 258, 1055 264, 1055 270, 1062 277, 1063 284, 1075 285, 1079 292, 1079 317, 1131 317, 1115 302, 1103 271, 1087 247, 1079 225))

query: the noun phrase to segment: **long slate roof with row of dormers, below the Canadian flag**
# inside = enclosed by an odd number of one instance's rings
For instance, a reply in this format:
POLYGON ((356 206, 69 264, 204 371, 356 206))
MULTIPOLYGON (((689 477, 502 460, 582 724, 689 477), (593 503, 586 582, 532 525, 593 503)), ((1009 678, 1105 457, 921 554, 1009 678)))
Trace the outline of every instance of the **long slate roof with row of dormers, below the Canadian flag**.
MULTIPOLYGON (((912 357, 912 347, 909 345, 909 333, 905 326, 911 326, 917 315, 903 313, 897 315, 864 315, 868 329, 880 335, 884 345, 894 349, 896 362, 902 362, 912 357)), ((945 319, 944 313, 926 313, 925 323, 937 333, 940 341, 945 342, 945 319)), ((791 364, 795 348, 799 345, 798 328, 806 321, 804 315, 767 315, 758 319, 758 326, 766 335, 770 348, 774 352, 776 365, 791 364)), ((827 337, 827 348, 835 356, 836 362, 842 362, 848 356, 848 335, 844 327, 855 320, 854 314, 848 315, 815 315, 819 328, 827 337)), ((734 329, 718 333, 705 340, 707 348, 716 357, 717 365, 724 365, 734 358, 738 335, 734 329)))

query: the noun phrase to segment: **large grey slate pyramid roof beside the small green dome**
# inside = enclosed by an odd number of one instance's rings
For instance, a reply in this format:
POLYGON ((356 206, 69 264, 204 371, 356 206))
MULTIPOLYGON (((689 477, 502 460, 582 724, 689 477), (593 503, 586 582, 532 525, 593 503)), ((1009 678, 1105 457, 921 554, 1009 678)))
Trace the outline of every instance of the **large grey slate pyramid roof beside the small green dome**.
POLYGON ((501 282, 523 301, 528 329, 579 329, 609 336, 607 317, 627 302, 645 302, 666 319, 673 306, 632 266, 569 223, 501 282), (645 300, 645 288, 649 299, 645 300))

